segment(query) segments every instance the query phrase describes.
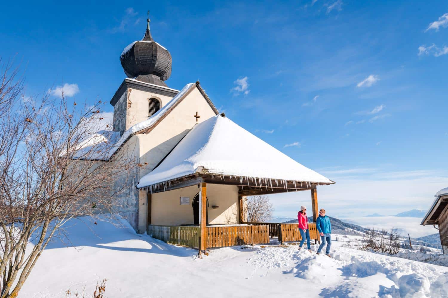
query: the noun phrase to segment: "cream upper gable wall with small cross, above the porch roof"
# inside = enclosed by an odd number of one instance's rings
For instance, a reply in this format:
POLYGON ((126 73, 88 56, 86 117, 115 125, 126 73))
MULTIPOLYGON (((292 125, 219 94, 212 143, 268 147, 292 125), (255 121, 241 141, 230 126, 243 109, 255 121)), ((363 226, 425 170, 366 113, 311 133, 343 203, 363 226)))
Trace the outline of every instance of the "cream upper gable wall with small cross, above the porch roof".
POLYGON ((215 116, 205 98, 194 88, 149 134, 138 134, 140 162, 148 163, 140 168, 140 176, 149 173, 185 134, 196 124, 215 116), (194 115, 198 112, 201 118, 194 115))

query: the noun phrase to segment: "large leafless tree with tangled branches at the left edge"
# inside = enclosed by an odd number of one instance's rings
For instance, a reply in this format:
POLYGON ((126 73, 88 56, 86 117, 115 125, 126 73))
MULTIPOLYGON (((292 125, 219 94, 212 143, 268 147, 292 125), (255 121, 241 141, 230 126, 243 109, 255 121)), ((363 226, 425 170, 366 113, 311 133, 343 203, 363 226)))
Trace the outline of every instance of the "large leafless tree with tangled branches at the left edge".
POLYGON ((132 161, 108 160, 101 101, 23 96, 10 64, 0 78, 0 298, 17 297, 49 241, 69 219, 118 213, 132 161), (82 107, 83 106, 83 107, 82 107), (93 159, 103 159, 93 160, 93 159))

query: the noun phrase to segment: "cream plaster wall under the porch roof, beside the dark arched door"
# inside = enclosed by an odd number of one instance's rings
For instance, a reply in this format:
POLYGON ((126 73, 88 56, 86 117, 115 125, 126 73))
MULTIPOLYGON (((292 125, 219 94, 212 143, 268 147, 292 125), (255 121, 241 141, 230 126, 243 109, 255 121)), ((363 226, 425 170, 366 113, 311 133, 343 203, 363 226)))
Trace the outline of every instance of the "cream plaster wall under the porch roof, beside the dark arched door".
MULTIPOLYGON (((151 196, 151 224, 193 224, 193 199, 199 192, 198 185, 182 189, 153 193, 151 196), (180 197, 190 197, 189 205, 181 205, 180 197)), ((209 202, 208 220, 211 224, 238 221, 238 188, 234 185, 207 184, 209 202), (219 206, 213 209, 211 206, 219 206)))

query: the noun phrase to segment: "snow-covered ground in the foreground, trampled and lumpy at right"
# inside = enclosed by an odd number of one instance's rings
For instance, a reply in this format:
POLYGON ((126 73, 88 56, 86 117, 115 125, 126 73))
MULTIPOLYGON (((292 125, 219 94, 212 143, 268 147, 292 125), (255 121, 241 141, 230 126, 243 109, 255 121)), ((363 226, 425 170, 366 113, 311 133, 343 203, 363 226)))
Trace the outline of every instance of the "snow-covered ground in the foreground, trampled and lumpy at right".
POLYGON ((19 297, 92 293, 104 278, 108 298, 448 297, 448 267, 342 247, 357 236, 333 235, 333 258, 288 244, 212 249, 200 259, 124 221, 84 222, 67 228, 70 247, 55 242, 43 252, 19 297))

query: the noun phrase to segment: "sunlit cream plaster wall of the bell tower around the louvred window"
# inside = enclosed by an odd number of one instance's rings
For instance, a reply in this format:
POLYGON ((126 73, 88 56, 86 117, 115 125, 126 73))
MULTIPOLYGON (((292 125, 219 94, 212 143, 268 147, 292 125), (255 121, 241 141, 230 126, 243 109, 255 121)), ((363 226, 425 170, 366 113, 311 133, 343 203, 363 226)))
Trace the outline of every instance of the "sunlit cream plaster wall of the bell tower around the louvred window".
POLYGON ((128 88, 126 129, 149 118, 148 100, 150 98, 157 98, 161 102, 160 108, 162 108, 168 103, 168 101, 172 99, 172 97, 169 96, 128 88))

